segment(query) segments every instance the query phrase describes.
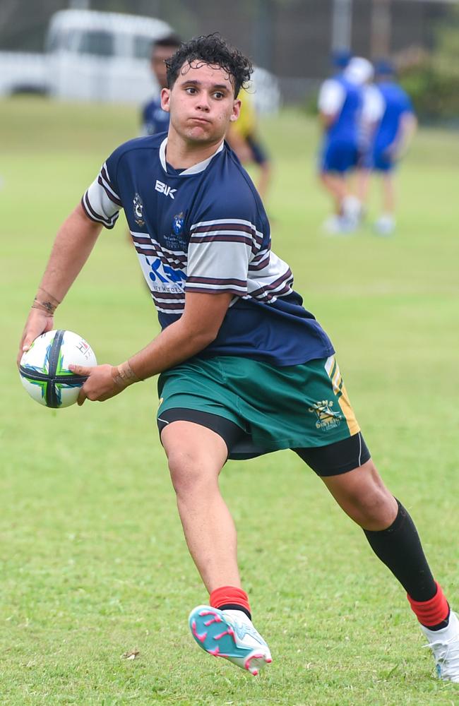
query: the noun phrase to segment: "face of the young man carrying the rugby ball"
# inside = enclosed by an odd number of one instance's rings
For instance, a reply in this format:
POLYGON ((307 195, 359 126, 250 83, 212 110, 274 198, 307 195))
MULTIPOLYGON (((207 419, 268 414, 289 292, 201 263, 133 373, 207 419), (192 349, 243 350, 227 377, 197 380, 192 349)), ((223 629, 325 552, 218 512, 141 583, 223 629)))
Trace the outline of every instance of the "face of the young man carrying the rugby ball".
POLYGON ((227 71, 202 61, 186 62, 172 89, 163 88, 161 100, 170 112, 169 130, 203 145, 222 140, 241 107, 227 71))

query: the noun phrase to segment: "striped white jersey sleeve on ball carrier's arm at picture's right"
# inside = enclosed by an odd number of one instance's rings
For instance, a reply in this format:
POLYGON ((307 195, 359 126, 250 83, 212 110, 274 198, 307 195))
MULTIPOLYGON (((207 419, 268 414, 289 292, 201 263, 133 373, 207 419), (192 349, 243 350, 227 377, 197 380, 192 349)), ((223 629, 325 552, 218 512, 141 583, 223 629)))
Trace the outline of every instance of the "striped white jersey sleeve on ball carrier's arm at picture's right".
POLYGON ((229 209, 205 210, 191 225, 186 292, 247 294, 249 262, 263 241, 255 199, 249 201, 234 199, 227 217, 229 209))

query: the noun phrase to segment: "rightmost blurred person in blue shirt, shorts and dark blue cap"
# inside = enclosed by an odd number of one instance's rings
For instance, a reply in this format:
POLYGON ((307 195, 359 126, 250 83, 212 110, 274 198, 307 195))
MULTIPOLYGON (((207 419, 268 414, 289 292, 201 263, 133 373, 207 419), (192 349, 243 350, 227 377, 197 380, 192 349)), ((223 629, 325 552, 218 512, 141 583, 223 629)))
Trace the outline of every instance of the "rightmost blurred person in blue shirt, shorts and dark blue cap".
POLYGON ((366 93, 362 121, 369 133, 360 193, 366 198, 371 172, 382 178, 383 213, 375 222, 381 235, 395 229, 394 170, 407 152, 417 127, 410 97, 395 81, 395 68, 389 61, 376 64, 376 85, 366 93))

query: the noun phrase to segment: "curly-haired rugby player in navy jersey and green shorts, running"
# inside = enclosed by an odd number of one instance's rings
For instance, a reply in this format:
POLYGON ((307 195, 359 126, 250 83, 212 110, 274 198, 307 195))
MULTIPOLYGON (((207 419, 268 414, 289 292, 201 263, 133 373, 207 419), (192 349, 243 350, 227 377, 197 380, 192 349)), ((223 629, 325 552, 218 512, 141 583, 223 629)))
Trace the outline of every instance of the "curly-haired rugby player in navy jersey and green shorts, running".
MULTIPOLYGON (((459 681, 458 618, 410 515, 371 460, 330 338, 271 250, 263 203, 225 144, 250 76, 249 60, 218 35, 183 44, 167 61, 161 96, 169 132, 130 140, 107 158, 57 234, 20 351, 53 328, 54 309, 123 208, 162 331, 117 366, 72 369, 88 376, 79 404, 160 374, 160 438, 186 543, 209 592, 189 617, 194 640, 251 674, 271 662, 251 622, 218 477, 228 457, 290 448, 404 587, 442 678, 459 681)), ((280 487, 287 496, 285 477, 280 487)), ((272 530, 269 522, 259 528, 272 530)), ((304 604, 299 596, 299 614, 304 604)))

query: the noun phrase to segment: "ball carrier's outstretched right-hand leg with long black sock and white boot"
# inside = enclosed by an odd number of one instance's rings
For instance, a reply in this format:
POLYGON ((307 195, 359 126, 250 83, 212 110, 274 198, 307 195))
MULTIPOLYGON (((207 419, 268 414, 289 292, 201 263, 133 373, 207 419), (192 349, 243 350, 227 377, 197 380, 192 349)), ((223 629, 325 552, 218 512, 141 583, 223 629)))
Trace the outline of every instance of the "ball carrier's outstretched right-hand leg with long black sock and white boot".
POLYGON ((371 549, 407 591, 441 679, 459 683, 459 620, 434 581, 412 519, 384 486, 373 461, 324 477, 341 508, 362 527, 371 549))

